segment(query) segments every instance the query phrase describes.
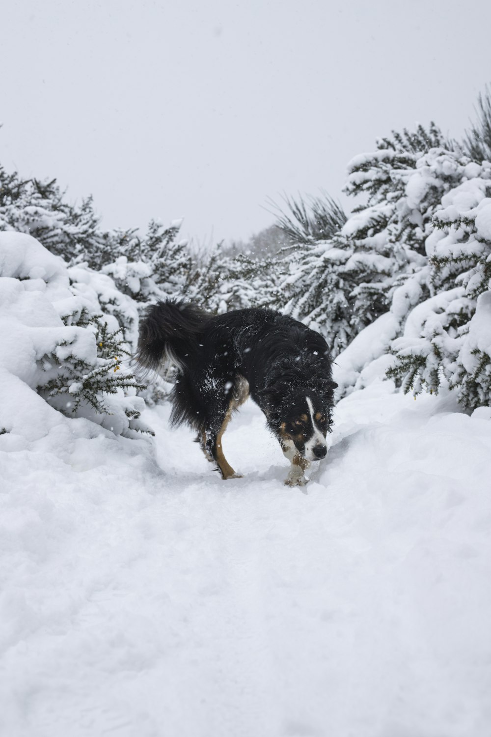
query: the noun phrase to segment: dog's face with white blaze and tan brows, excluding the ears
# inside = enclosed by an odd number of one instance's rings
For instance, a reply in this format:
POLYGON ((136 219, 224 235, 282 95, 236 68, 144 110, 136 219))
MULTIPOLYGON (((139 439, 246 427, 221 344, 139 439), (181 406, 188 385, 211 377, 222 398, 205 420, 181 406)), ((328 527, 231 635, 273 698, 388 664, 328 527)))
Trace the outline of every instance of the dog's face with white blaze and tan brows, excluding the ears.
POLYGON ((307 461, 325 457, 325 436, 331 429, 331 413, 326 404, 311 393, 283 410, 279 433, 283 450, 295 450, 307 461))

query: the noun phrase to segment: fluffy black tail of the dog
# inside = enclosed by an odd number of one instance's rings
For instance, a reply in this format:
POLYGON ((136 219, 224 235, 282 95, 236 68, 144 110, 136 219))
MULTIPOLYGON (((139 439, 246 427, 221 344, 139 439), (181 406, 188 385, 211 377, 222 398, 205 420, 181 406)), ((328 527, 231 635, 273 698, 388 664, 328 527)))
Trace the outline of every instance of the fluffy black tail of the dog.
POLYGON ((198 352, 199 333, 210 318, 191 302, 167 299, 152 305, 140 323, 138 365, 165 375, 169 363, 180 369, 191 364, 198 352))

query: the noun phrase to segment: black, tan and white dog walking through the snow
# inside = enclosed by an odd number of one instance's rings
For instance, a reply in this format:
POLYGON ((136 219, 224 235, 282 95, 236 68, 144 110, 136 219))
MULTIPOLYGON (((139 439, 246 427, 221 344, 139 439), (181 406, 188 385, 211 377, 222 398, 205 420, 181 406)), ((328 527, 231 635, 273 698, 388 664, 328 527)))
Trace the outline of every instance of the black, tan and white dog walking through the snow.
POLYGON ((136 360, 163 377, 169 364, 177 368, 171 423, 197 431, 223 479, 240 478, 222 437, 249 396, 290 461, 288 486, 303 486, 305 469, 325 458, 337 384, 324 338, 293 318, 263 307, 212 315, 190 302, 160 301, 141 322, 136 360))

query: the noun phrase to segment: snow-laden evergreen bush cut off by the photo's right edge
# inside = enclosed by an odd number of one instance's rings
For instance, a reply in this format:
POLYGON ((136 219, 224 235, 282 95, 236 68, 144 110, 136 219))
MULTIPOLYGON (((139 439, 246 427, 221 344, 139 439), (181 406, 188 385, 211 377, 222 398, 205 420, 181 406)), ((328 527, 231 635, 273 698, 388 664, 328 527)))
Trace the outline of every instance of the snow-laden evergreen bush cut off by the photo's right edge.
POLYGON ((442 198, 435 231, 426 239, 434 296, 406 320, 392 343, 389 375, 418 394, 443 381, 464 408, 491 404, 491 164, 463 167, 462 184, 442 198))

